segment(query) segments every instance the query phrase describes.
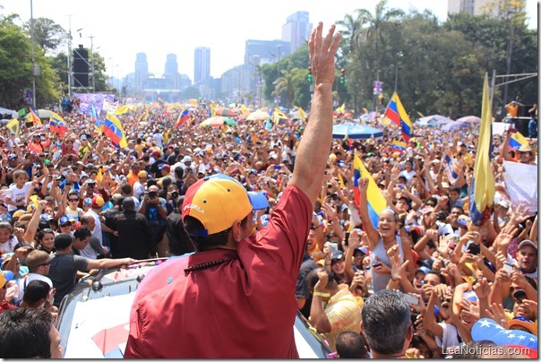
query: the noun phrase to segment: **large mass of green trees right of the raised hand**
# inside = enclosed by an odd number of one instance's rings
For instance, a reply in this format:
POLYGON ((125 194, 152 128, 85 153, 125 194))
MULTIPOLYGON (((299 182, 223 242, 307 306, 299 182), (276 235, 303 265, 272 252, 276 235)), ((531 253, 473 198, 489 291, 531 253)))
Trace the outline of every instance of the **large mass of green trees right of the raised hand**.
MULTIPOLYGON (((526 28, 516 1, 500 2, 508 9, 500 12, 502 18, 459 13, 443 24, 430 12, 387 9, 384 0, 374 12, 346 14, 338 22, 344 39, 337 67, 348 73, 347 81, 340 76, 334 87, 339 101, 356 112, 374 106, 382 111, 387 105, 374 99, 374 81, 383 82, 388 100, 398 76, 399 97, 414 119, 417 111, 451 118, 480 115, 485 73, 505 74, 508 68, 509 73, 535 73, 538 68, 537 30, 526 28)), ((494 108, 502 105, 503 88, 494 90, 494 108)), ((511 83, 508 92, 510 99, 532 104, 537 78, 511 83)))

